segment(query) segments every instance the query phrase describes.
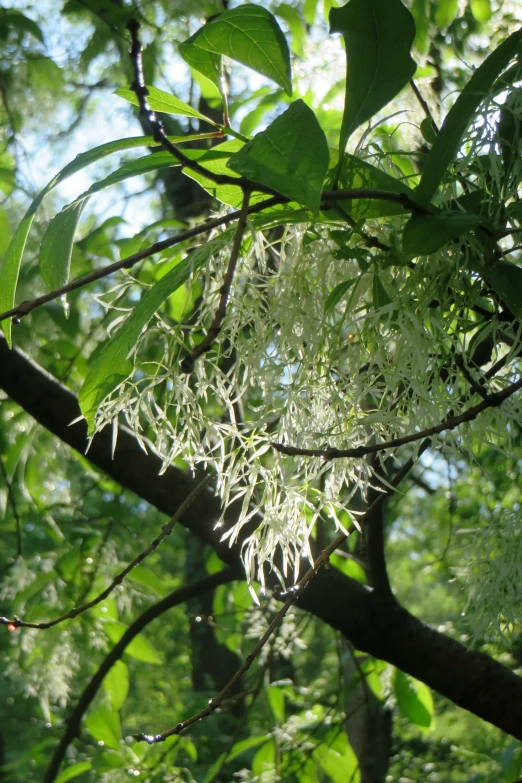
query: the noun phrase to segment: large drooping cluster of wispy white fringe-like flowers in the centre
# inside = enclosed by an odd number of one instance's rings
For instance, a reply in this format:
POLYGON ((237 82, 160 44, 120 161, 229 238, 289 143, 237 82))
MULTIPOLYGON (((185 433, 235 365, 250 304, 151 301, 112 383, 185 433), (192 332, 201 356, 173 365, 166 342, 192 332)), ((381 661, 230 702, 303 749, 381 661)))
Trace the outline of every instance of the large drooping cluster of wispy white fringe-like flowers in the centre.
MULTIPOLYGON (((150 427, 165 466, 182 457, 213 468, 224 507, 242 498, 237 524, 224 531, 231 543, 261 512, 243 548, 250 580, 263 578, 264 563, 281 581, 296 580, 301 558, 311 559, 319 515, 344 529, 374 471, 388 464, 382 453, 373 462, 287 456, 270 443, 347 449, 439 424, 473 396, 453 356, 466 356, 472 339, 495 338, 499 328, 493 318, 477 337, 467 308, 480 284, 462 270, 458 254, 446 250, 383 269, 382 257, 377 266, 369 252, 360 263, 360 249, 359 261, 349 252, 336 257, 329 229, 314 231, 287 228, 274 241, 253 230, 221 332, 185 374, 187 345, 214 316, 227 251, 211 258, 198 324, 150 325, 142 342, 162 341, 161 363, 136 362, 99 413, 99 426, 123 412, 139 436, 150 427), (346 290, 335 301, 339 286, 346 290)), ((504 372, 492 390, 508 382, 504 372)), ((497 438, 514 413, 508 402, 483 417, 481 436, 497 438)), ((466 429, 442 437, 447 448, 460 448, 466 429)))

